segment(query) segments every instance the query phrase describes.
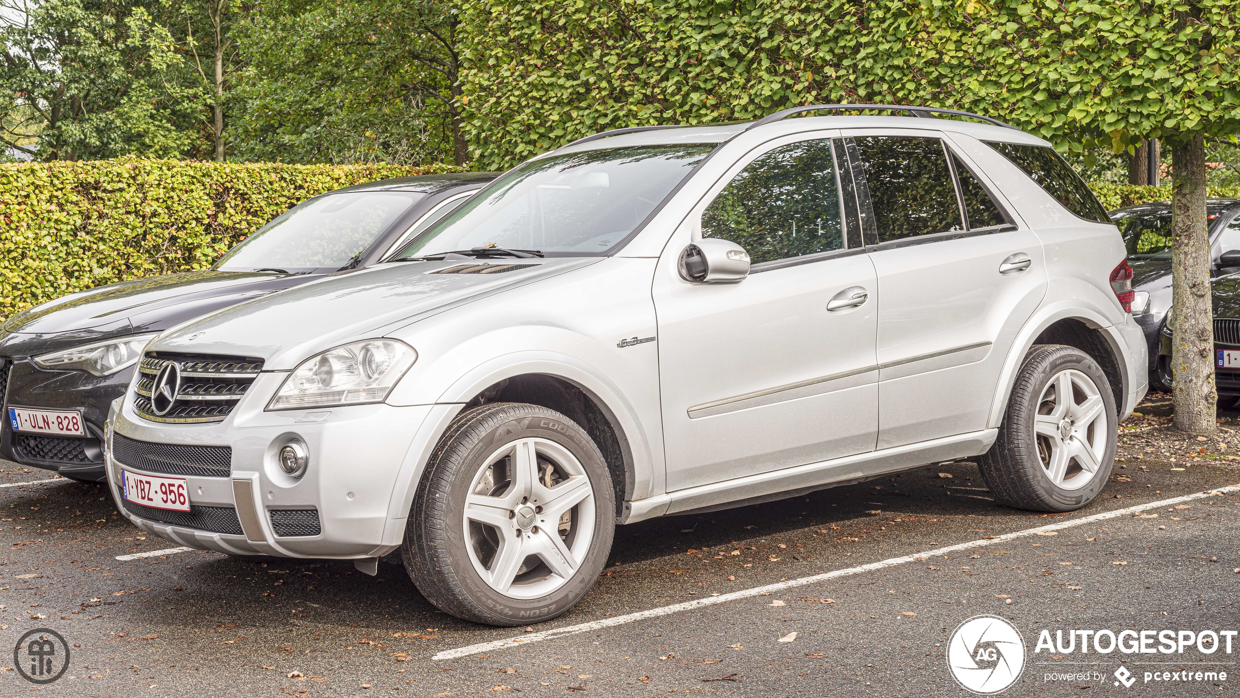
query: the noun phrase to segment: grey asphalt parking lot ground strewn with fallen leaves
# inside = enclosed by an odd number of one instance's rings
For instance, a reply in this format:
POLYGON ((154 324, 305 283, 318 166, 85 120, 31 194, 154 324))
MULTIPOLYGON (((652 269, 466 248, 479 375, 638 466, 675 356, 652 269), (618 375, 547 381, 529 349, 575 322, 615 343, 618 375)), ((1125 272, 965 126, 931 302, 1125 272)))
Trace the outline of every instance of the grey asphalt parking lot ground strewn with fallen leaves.
POLYGON ((393 564, 368 577, 198 550, 118 560, 175 544, 129 526, 100 486, 0 461, 4 651, 36 627, 72 646, 60 679, 30 683, 9 665, 0 691, 965 696, 949 638, 988 614, 1024 641, 1007 694, 1228 694, 1240 637, 1230 655, 1035 651, 1043 630, 1060 642, 1081 629, 1240 630, 1240 491, 1200 496, 1240 485, 1240 461, 1154 456, 1117 465, 1102 497, 1069 515, 996 506, 977 467, 956 462, 621 527, 590 595, 528 631, 448 616, 393 564), (1097 518, 1107 512, 1122 513, 1097 518), (1115 677, 1121 662, 1131 684, 1115 677))

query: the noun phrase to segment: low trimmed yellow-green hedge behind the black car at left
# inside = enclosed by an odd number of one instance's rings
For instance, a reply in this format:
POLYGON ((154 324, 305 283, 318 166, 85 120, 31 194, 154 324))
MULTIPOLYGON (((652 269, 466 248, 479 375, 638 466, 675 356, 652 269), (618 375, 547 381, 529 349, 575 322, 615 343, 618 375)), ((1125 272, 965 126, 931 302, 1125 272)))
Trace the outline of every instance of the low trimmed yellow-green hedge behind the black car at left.
POLYGON ((0 165, 0 317, 114 281, 206 269, 325 191, 459 170, 138 159, 0 165))

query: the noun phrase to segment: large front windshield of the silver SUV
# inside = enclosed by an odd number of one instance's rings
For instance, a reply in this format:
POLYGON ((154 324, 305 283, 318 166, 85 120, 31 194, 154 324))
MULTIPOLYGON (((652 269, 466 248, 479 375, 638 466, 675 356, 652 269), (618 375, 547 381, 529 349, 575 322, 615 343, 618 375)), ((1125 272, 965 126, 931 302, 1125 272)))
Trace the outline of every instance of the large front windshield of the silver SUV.
POLYGON ((641 145, 518 166, 396 257, 474 248, 601 255, 616 248, 714 145, 641 145))

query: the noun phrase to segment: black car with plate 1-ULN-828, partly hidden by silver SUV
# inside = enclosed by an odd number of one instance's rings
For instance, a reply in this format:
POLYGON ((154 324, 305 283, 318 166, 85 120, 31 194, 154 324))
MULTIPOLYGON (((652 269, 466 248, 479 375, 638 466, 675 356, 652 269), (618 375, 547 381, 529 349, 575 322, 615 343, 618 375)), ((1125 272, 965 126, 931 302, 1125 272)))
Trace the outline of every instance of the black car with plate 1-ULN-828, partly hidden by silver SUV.
MULTIPOLYGON (((306 200, 208 270, 110 284, 45 303, 0 330, 0 457, 103 481, 103 424, 143 346, 200 315, 381 262, 495 177, 357 185, 306 200)), ((211 409, 211 395, 202 397, 211 409)))

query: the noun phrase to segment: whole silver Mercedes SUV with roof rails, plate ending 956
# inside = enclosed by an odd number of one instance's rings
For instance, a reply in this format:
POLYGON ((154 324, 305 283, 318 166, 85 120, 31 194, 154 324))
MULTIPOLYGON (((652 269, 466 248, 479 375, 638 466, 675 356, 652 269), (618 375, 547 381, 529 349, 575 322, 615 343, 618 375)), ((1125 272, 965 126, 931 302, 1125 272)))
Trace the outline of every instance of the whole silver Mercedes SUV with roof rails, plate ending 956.
POLYGON ((399 550, 492 625, 656 516, 963 457, 1085 506, 1146 392, 1120 233, 1035 136, 831 109, 579 140, 391 263, 162 332, 113 404, 118 506, 231 555, 399 550))

